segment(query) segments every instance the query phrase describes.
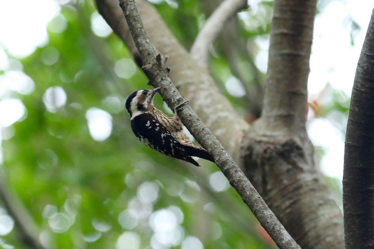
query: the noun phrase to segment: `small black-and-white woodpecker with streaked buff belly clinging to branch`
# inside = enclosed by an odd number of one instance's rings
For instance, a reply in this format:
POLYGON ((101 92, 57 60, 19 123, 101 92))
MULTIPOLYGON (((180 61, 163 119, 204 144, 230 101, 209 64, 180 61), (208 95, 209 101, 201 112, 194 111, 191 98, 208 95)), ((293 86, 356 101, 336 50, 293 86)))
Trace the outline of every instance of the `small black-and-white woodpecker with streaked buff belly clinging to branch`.
POLYGON ((134 91, 126 100, 135 136, 146 146, 159 152, 200 166, 192 157, 212 162, 214 158, 204 148, 194 145, 183 132, 181 120, 174 110, 169 117, 153 105, 153 98, 161 87, 134 91))

